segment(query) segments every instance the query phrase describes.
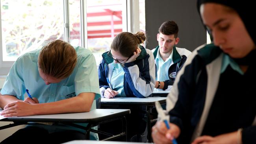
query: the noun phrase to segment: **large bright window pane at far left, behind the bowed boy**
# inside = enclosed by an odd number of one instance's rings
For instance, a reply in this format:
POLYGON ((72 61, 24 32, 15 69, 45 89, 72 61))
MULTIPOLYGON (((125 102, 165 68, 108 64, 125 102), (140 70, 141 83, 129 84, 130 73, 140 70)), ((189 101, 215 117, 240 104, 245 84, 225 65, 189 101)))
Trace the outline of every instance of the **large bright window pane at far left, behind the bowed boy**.
POLYGON ((63 40, 63 0, 1 0, 3 60, 63 40))

